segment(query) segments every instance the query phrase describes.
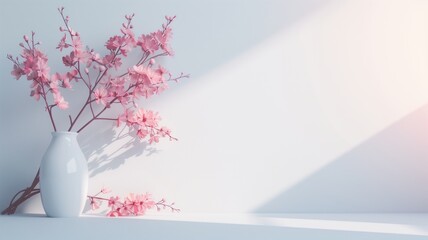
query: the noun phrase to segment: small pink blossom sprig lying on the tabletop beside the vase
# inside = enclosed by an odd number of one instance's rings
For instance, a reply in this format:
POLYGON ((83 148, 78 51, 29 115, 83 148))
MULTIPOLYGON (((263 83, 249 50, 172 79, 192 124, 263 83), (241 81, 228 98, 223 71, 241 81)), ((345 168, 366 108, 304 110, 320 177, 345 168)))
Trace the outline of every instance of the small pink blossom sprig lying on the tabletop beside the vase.
POLYGON ((172 212, 179 212, 180 209, 174 207, 174 203, 168 204, 165 199, 158 202, 153 201, 150 193, 134 194, 130 193, 122 201, 118 196, 105 198, 100 197, 100 194, 107 194, 110 190, 103 188, 94 196, 88 196, 92 210, 100 208, 102 202, 107 202, 110 211, 107 213, 109 217, 120 216, 142 216, 147 210, 156 207, 158 211, 161 209, 170 209, 172 212))

